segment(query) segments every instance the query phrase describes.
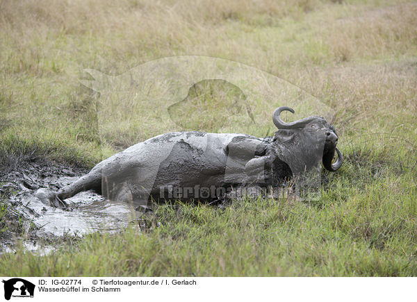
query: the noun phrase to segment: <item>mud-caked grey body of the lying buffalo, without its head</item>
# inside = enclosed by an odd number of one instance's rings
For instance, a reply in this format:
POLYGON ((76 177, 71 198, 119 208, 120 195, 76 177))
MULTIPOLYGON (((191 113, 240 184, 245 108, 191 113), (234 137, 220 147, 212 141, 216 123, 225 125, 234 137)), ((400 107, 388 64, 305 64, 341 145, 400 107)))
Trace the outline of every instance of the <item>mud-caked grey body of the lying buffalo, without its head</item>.
POLYGON ((58 192, 58 197, 66 199, 75 190, 93 189, 108 199, 144 203, 150 196, 161 199, 161 190, 169 187, 272 185, 291 177, 289 168, 272 173, 272 165, 277 162, 286 166, 277 157, 270 137, 165 133, 99 162, 89 174, 58 192))

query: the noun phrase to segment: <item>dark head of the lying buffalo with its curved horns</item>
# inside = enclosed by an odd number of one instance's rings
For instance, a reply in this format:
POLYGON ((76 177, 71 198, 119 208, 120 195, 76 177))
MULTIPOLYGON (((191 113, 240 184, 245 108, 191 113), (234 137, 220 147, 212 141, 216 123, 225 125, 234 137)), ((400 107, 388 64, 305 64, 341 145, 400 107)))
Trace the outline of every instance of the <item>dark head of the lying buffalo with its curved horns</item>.
POLYGON ((323 166, 329 171, 339 169, 343 163, 343 156, 336 147, 338 136, 333 126, 329 125, 322 117, 317 116, 286 123, 279 116, 285 110, 294 113, 292 108, 282 106, 277 108, 272 115, 272 121, 279 129, 275 137, 288 143, 293 142, 295 148, 304 148, 304 153, 309 153, 315 147, 320 150, 322 141, 325 140, 324 149, 322 149, 323 166), (334 153, 337 153, 338 158, 336 162, 332 163, 334 153))

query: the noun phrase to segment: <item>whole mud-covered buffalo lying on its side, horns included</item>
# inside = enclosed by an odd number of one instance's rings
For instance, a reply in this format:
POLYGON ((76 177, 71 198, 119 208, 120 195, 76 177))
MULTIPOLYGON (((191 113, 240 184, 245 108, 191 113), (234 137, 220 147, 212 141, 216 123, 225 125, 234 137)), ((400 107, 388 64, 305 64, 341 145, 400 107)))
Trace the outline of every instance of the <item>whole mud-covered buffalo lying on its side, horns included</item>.
POLYGON ((64 199, 95 190, 107 199, 146 206, 150 199, 218 199, 224 189, 256 183, 281 185, 318 167, 336 171, 343 162, 336 148, 335 129, 322 117, 291 123, 272 115, 273 137, 197 131, 165 133, 140 142, 99 162, 90 173, 58 192, 40 189, 44 203, 64 205, 64 199), (332 163, 335 153, 336 162, 332 163))

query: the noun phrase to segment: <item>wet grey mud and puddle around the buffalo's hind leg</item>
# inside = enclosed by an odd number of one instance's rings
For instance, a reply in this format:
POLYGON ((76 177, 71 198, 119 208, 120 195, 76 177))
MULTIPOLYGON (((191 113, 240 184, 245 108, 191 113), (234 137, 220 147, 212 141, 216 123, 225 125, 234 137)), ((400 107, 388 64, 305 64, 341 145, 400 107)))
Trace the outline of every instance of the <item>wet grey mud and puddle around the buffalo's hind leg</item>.
MULTIPOLYGON (((34 196, 40 188, 56 191, 87 172, 88 169, 35 161, 24 162, 0 176, 0 194, 11 213, 9 220, 22 221, 26 230, 26 245, 31 247, 40 239, 85 235, 95 231, 117 232, 133 220, 135 212, 128 205, 107 201, 92 191, 66 199, 69 205, 66 210, 44 205, 34 196)), ((13 251, 10 246, 19 235, 13 230, 3 232, 0 251, 13 251)))

